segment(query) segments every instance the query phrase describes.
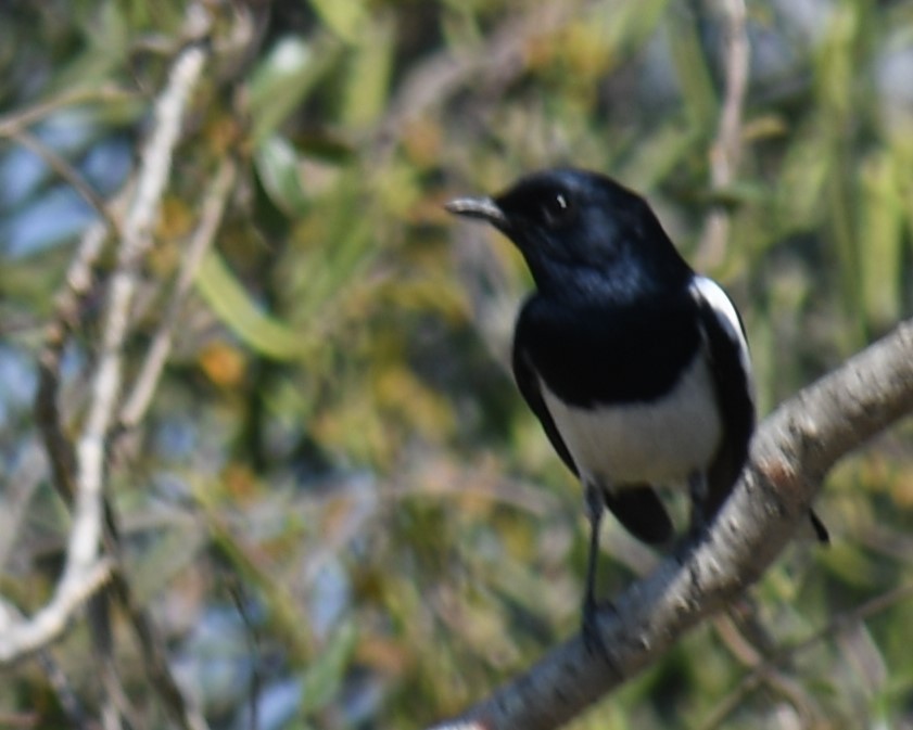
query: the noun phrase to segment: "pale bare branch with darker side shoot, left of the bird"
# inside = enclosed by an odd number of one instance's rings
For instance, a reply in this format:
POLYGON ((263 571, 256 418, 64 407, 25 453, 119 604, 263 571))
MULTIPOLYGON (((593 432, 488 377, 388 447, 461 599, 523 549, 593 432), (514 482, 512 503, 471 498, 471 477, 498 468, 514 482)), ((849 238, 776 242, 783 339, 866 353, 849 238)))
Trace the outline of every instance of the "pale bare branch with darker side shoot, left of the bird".
MULTIPOLYGON (((99 543, 103 532, 105 450, 117 417, 130 307, 142 257, 152 244, 152 226, 170 174, 187 104, 206 56, 207 52, 199 43, 186 48, 172 67, 168 84, 156 102, 153 131, 143 148, 137 184, 119 230, 117 266, 107 292, 98 368, 75 448, 63 433, 56 404, 60 354, 69 323, 55 322, 51 329, 41 362, 36 410, 55 486, 73 509, 73 527, 63 574, 48 604, 33 617, 23 618, 0 599, 0 664, 13 662, 54 640, 83 603, 112 577, 113 561, 100 554, 99 543)), ((78 305, 79 296, 91 281, 91 265, 103 242, 104 229, 93 226, 68 272, 69 290, 60 305, 60 313, 66 315, 69 305, 78 305)), ((182 702, 180 706, 169 702, 169 708, 179 715, 183 727, 205 727, 202 716, 188 710, 182 702)))

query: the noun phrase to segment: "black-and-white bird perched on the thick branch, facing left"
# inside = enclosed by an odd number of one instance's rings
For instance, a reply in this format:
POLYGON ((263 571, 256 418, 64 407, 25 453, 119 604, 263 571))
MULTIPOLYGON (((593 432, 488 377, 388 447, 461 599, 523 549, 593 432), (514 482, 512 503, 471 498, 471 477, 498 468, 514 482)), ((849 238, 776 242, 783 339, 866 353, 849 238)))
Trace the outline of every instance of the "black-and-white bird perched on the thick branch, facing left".
POLYGON ((545 169, 495 196, 457 197, 445 208, 494 226, 532 274, 512 370, 583 485, 589 549, 582 628, 587 648, 599 649, 605 511, 639 540, 668 545, 674 526, 657 487, 684 487, 697 536, 746 463, 756 405, 741 318, 724 290, 685 261, 647 201, 606 175, 545 169))

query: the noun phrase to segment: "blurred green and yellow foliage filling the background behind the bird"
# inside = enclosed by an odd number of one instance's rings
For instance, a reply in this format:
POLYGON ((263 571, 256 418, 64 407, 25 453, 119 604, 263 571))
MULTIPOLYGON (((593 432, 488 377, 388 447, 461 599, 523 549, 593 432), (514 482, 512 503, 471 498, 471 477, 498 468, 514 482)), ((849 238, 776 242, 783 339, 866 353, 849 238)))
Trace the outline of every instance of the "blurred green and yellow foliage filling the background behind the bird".
MULTIPOLYGON (((8 503, 37 438, 41 328, 94 218, 16 130, 113 195, 191 4, 0 5, 8 503)), ((506 241, 445 218, 448 195, 592 167, 643 190, 695 261, 705 219, 724 209, 727 245, 708 273, 745 315, 762 410, 913 312, 909 0, 748 3, 741 163, 722 190, 709 183, 725 73, 717 3, 199 8, 214 18, 212 56, 145 268, 130 372, 201 191, 226 155, 242 172, 111 496, 138 594, 213 727, 250 727, 252 705, 264 730, 421 727, 578 628, 579 487, 506 369, 530 281, 506 241)), ((71 419, 109 266, 67 351, 71 419)), ((832 474, 820 512, 830 549, 800 542, 745 605, 573 727, 913 728, 913 600, 892 593, 913 581, 910 424, 832 474), (748 656, 794 645, 751 683, 748 656)), ((2 590, 23 611, 52 588, 67 525, 38 485, 0 555, 2 590)), ((611 529, 605 577, 620 590, 649 556, 611 529)), ((164 727, 121 632, 136 727, 164 727)), ((77 626, 52 657, 91 716, 89 646, 77 626)), ((0 675, 0 725, 60 727, 42 665, 0 675)))

